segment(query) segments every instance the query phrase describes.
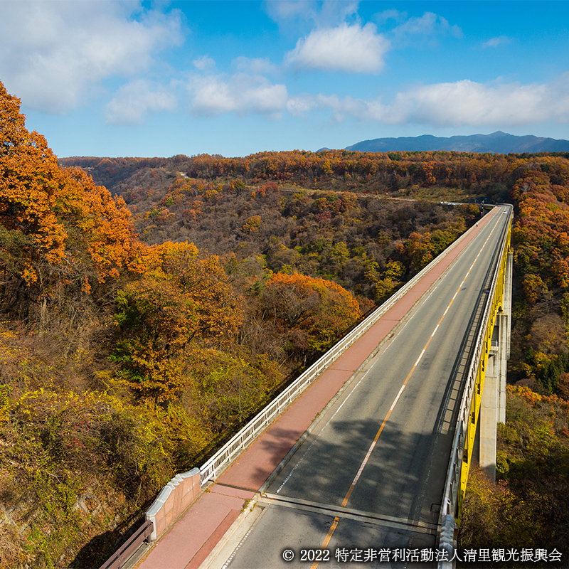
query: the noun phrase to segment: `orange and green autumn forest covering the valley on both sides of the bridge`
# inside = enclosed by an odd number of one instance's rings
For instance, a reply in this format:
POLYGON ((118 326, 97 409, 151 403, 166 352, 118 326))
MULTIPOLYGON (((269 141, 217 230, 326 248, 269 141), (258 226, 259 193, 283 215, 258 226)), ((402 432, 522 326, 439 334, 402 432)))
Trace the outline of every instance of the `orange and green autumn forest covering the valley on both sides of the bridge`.
POLYGON ((0 568, 98 568, 482 202, 514 204, 509 399, 460 544, 568 555, 569 154, 58 160, 24 121, 0 83, 0 568))

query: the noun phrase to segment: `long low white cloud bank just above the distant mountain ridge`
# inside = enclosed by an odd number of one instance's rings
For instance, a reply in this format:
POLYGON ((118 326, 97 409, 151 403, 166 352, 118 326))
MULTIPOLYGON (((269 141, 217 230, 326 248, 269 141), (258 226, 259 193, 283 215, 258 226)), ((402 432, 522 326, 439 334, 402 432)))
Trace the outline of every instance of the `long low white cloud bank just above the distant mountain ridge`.
POLYGON ((329 110, 346 118, 385 124, 425 124, 432 127, 514 127, 543 121, 569 122, 569 73, 551 83, 474 83, 470 80, 412 87, 391 104, 380 99, 340 99, 336 95, 292 97, 287 109, 302 116, 329 110))

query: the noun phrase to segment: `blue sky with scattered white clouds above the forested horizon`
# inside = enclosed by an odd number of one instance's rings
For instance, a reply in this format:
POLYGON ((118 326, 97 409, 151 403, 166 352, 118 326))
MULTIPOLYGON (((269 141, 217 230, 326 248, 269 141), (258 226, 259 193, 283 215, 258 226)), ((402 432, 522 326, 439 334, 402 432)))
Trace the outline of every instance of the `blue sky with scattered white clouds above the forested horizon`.
POLYGON ((58 156, 569 139, 569 2, 0 0, 0 80, 58 156))

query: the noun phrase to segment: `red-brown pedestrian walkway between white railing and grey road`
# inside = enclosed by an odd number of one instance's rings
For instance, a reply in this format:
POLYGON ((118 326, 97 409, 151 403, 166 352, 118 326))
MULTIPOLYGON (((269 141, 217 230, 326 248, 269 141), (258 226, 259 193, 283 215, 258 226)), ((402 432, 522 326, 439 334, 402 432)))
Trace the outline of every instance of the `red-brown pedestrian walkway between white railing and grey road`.
MULTIPOLYGON (((321 410, 494 216, 486 214, 427 275, 340 356, 161 536, 137 569, 198 569, 321 410)), ((240 517, 241 516, 241 517, 240 517)), ((238 523, 238 522, 237 522, 238 523)))

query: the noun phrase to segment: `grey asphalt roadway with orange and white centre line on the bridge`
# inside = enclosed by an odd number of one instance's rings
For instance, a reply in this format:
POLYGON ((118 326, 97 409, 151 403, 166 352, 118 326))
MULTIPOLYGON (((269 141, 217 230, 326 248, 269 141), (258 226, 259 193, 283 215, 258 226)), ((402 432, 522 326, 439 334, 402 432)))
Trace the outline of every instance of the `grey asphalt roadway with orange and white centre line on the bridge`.
POLYGON ((301 550, 322 547, 331 555, 321 568, 411 568, 338 562, 334 552, 435 548, 464 349, 509 223, 500 210, 320 418, 212 569, 315 569, 301 550))

